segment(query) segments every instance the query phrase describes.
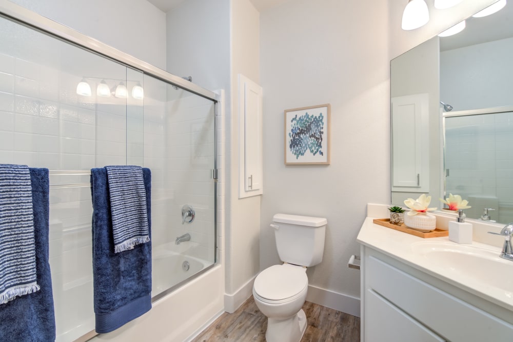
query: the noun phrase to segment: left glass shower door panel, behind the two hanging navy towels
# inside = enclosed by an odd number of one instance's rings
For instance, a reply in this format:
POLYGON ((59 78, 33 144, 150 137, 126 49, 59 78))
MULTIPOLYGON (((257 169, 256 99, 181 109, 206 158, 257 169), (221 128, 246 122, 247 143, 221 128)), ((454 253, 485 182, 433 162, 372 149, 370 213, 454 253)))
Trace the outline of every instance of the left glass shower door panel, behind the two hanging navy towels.
POLYGON ((50 170, 56 340, 70 341, 94 329, 89 170, 127 161, 126 99, 111 93, 127 70, 5 18, 0 32, 0 163, 50 170))

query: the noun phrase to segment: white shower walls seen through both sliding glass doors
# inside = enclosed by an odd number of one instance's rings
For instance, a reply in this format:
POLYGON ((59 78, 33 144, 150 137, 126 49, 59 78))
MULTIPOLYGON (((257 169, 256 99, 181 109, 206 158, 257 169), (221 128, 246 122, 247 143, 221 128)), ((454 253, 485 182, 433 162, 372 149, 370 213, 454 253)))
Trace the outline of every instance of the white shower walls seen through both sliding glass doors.
POLYGON ((149 167, 153 250, 174 245, 176 236, 189 232, 195 247, 188 255, 213 263, 214 105, 41 33, 19 29, 6 19, 0 18, 0 28, 0 163, 85 170, 50 176, 56 340, 74 340, 94 329, 89 169, 149 167), (45 53, 31 53, 31 48, 43 46, 45 53), (81 63, 93 68, 82 70, 81 63), (84 75, 95 75, 88 80, 91 97, 75 92, 84 75), (130 96, 96 96, 95 82, 104 77, 125 80, 127 87, 127 79, 140 81, 144 105, 130 96), (190 225, 181 224, 184 204, 196 210, 190 225))

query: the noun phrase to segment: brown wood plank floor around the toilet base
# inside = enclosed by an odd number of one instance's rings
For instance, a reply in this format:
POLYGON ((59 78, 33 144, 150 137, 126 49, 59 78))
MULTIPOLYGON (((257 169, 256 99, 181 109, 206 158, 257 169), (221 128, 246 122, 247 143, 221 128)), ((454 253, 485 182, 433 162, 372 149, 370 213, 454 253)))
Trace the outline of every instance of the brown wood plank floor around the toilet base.
MULTIPOLYGON (((301 342, 359 342, 360 318, 305 302, 308 325, 301 342)), ((267 317, 251 296, 234 313, 223 313, 192 342, 265 341, 267 317)))

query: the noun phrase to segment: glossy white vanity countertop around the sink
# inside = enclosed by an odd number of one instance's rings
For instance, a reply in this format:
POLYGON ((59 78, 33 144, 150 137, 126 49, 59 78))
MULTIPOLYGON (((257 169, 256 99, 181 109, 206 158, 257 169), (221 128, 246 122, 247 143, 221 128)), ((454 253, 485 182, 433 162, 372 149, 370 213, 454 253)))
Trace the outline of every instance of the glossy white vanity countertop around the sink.
MULTIPOLYGON (((460 272, 458 269, 447 267, 447 263, 444 262, 444 260, 440 260, 440 258, 428 258, 425 254, 419 252, 422 249, 422 246, 426 245, 426 242, 429 243, 429 246, 432 246, 432 243, 440 243, 442 248, 460 248, 460 246, 467 245, 453 243, 447 236, 422 238, 403 233, 376 225, 372 223, 373 218, 382 217, 367 217, 365 219, 357 237, 360 244, 376 249, 388 256, 400 260, 408 266, 416 268, 431 276, 446 281, 451 285, 457 286, 472 294, 489 300, 492 303, 513 311, 513 287, 504 289, 504 283, 501 284, 503 288, 497 287, 493 283, 494 280, 490 280, 487 277, 479 277, 477 274, 471 272, 473 269, 471 258, 469 258, 470 261, 468 265, 464 266, 466 272, 460 272), (470 272, 467 272, 469 270, 470 272)), ((499 257, 501 253, 500 247, 473 242, 471 247, 468 248, 477 248, 475 250, 478 252, 477 254, 482 254, 487 258, 494 259, 494 262, 499 263, 499 266, 502 265, 509 268, 509 264, 504 263, 511 263, 511 267, 513 267, 513 261, 499 257)), ((462 256, 465 257, 465 253, 463 253, 462 256)), ((513 274, 498 274, 497 277, 502 277, 502 279, 507 279, 511 282, 510 279, 513 278, 513 274)))

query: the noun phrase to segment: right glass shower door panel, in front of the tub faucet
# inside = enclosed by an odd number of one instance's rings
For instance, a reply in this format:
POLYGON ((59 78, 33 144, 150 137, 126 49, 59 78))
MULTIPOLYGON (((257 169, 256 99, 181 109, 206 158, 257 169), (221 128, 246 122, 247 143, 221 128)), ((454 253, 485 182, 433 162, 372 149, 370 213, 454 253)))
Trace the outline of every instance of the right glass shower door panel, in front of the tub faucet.
POLYGON ((153 77, 144 77, 144 165, 152 169, 155 296, 214 263, 214 104, 153 77), (154 183, 155 184, 155 183, 154 183), (195 216, 183 223, 182 208, 195 216), (188 234, 190 240, 176 244, 188 234))

